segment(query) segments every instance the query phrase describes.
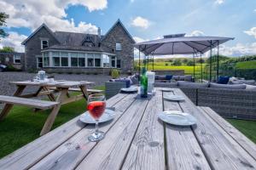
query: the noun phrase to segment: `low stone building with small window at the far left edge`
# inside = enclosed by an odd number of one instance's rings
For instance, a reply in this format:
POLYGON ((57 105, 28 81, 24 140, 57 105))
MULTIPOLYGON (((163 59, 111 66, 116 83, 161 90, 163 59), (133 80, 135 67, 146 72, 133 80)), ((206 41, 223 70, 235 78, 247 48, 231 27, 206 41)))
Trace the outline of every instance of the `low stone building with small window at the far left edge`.
POLYGON ((0 65, 13 66, 18 70, 25 70, 25 54, 24 53, 0 53, 0 65))

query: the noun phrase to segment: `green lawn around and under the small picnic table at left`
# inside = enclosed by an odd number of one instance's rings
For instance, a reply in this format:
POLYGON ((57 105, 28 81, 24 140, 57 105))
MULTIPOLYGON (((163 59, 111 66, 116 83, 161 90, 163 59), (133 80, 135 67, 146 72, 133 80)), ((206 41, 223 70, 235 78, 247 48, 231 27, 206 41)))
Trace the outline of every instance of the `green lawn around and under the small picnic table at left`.
MULTIPOLYGON (((103 86, 96 89, 105 90, 104 88, 103 86)), ((85 99, 62 105, 52 129, 84 111, 86 111, 85 99)), ((49 112, 50 110, 35 113, 32 108, 14 106, 9 115, 0 122, 0 158, 37 139, 49 112)))

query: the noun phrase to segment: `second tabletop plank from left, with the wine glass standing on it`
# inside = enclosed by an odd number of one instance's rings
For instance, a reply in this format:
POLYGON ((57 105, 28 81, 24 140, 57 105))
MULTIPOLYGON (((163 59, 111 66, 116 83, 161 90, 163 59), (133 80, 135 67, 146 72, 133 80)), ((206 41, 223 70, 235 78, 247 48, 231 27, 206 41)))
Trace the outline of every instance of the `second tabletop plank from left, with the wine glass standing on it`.
MULTIPOLYGON (((134 95, 127 95, 124 99, 113 105, 117 116, 112 122, 103 123, 100 125, 100 130, 108 132, 108 129, 119 120, 119 116, 126 111, 126 109, 134 101, 134 95)), ((75 134, 72 139, 68 139, 60 147, 52 151, 48 156, 39 161, 31 169, 73 169, 77 167, 88 154, 88 152, 96 145, 90 142, 87 137, 94 130, 95 125, 84 127, 79 133, 75 134)))

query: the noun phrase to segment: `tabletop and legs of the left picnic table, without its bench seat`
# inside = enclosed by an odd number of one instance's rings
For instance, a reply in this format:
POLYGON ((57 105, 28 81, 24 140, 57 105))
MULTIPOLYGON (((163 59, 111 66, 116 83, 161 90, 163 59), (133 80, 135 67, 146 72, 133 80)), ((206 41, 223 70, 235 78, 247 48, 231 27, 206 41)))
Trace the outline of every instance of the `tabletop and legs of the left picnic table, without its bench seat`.
MULTIPOLYGON (((15 97, 22 98, 33 98, 42 95, 47 95, 50 101, 58 102, 58 105, 54 106, 53 111, 49 114, 46 122, 44 123, 44 127, 40 133, 43 135, 48 133, 53 123, 55 122, 55 117, 61 109, 61 105, 71 103, 73 101, 77 101, 79 99, 87 99, 87 85, 93 84, 94 82, 73 82, 73 81, 55 81, 55 82, 32 82, 32 81, 22 81, 22 82, 10 82, 11 84, 15 84, 17 89, 15 91, 15 97), (29 88, 32 86, 38 87, 36 93, 33 94, 23 94, 25 88, 29 88), (82 94, 70 96, 68 93, 69 88, 73 88, 78 86, 82 92, 82 94), (53 94, 54 90, 50 90, 50 88, 55 88, 55 91, 59 92, 57 96, 53 94)), ((21 101, 20 101, 21 103, 21 101)), ((2 120, 5 116, 9 114, 9 111, 12 109, 13 104, 6 104, 3 106, 3 110, 0 113, 0 120, 2 120)))

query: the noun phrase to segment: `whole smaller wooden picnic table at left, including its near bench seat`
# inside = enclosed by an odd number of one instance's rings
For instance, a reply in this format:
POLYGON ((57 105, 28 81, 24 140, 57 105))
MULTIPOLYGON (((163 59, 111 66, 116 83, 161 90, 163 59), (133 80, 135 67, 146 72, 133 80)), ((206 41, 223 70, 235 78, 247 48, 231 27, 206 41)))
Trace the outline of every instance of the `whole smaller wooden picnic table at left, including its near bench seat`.
MULTIPOLYGON (((53 123, 55 122, 55 117, 61 109, 61 105, 77 101, 79 99, 87 99, 89 93, 87 92, 87 85, 93 84, 94 82, 73 82, 73 81, 61 81, 61 82, 32 82, 32 81, 22 81, 22 82, 10 82, 15 84, 17 89, 14 96, 2 96, 0 101, 4 102, 3 110, 0 113, 0 121, 3 120, 5 116, 9 114, 13 105, 26 105, 29 107, 34 107, 37 109, 49 109, 52 108, 47 120, 44 123, 44 127, 41 130, 40 135, 48 133, 53 123), (32 94, 22 94, 24 89, 27 87, 38 87, 36 93, 32 94), (79 87, 79 92, 82 94, 70 96, 68 94, 69 88, 75 86, 79 87), (54 90, 49 88, 55 88, 58 91, 55 97, 54 90), (38 99, 27 99, 38 97, 42 95, 47 95, 50 101, 40 101, 38 99)), ((92 92, 91 92, 92 93, 92 92)))

